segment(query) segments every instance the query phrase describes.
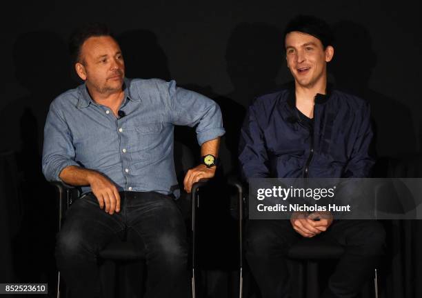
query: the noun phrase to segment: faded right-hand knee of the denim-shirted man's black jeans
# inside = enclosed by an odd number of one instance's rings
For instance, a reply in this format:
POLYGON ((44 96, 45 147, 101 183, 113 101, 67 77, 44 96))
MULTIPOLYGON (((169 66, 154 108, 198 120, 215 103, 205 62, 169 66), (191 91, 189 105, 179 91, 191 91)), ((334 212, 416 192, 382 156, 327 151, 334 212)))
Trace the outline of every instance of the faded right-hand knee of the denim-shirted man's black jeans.
POLYGON ((185 262, 188 257, 185 239, 179 239, 175 235, 165 234, 159 236, 157 245, 159 257, 171 263, 185 262))

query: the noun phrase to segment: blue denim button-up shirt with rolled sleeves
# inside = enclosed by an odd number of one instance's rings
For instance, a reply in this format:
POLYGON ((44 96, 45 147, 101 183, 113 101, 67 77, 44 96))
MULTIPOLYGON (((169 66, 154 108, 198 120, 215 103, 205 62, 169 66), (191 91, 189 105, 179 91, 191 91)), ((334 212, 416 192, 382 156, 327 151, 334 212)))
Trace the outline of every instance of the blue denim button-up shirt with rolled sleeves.
POLYGON ((125 79, 123 88, 120 118, 93 101, 85 84, 54 99, 44 128, 49 181, 60 180, 66 166, 81 166, 103 173, 119 190, 170 194, 177 186, 174 125, 196 126, 199 145, 225 132, 217 103, 175 81, 125 79))

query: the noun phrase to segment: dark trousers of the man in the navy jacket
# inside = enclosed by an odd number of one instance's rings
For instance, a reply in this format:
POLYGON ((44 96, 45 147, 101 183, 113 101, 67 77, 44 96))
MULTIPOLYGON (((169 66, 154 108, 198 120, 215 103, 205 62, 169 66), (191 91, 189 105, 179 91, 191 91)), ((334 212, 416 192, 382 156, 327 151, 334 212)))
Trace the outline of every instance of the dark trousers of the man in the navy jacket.
MULTIPOLYGON (((263 298, 290 297, 286 255, 301 239, 288 220, 250 220, 246 228, 246 259, 263 298)), ((334 221, 315 237, 341 244, 345 253, 331 275, 323 297, 356 297, 374 274, 383 253, 385 231, 376 221, 334 221)))

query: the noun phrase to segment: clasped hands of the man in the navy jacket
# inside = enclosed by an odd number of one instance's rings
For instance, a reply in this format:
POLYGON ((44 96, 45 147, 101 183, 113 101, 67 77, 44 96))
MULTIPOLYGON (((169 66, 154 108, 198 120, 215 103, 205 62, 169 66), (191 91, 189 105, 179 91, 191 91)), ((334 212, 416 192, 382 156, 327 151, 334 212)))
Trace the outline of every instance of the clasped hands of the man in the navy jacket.
POLYGON ((327 230, 332 223, 332 218, 328 219, 327 215, 318 212, 310 215, 306 212, 294 212, 290 218, 290 223, 300 235, 311 238, 327 230), (319 221, 315 220, 317 218, 319 218, 319 221))

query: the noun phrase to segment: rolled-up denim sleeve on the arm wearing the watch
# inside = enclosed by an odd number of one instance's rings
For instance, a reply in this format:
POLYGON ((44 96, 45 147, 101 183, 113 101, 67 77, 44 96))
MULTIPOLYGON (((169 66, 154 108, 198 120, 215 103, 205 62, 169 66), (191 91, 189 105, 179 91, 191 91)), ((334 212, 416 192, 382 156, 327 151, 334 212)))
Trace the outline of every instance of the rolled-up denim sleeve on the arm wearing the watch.
POLYGON ((175 81, 168 82, 170 115, 174 125, 196 126, 201 146, 224 135, 223 118, 219 105, 197 92, 178 88, 175 81))

